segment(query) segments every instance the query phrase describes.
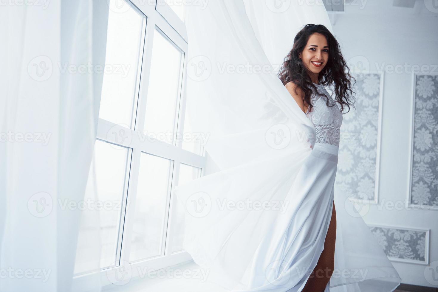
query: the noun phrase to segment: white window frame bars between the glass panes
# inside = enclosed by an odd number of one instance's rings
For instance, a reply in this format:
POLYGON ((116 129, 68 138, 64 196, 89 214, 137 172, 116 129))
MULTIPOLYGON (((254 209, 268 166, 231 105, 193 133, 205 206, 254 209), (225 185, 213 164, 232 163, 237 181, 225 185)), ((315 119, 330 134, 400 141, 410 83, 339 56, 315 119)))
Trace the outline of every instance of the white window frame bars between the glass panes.
MULTIPOLYGON (((119 242, 117 258, 120 260, 129 261, 129 255, 131 252, 131 231, 134 223, 135 201, 137 195, 138 175, 140 169, 141 153, 148 153, 156 155, 162 158, 173 160, 173 174, 171 178, 171 191, 170 196, 166 200, 166 222, 163 232, 164 243, 171 242, 171 234, 168 236, 168 230, 170 230, 170 222, 172 215, 171 199, 173 196, 174 186, 179 179, 180 164, 191 165, 193 167, 201 169, 201 176, 204 175, 206 157, 205 152, 202 149, 202 155, 194 154, 190 151, 182 149, 182 143, 177 143, 177 146, 162 141, 150 141, 153 139, 140 139, 141 135, 144 135, 144 122, 146 112, 146 99, 148 93, 148 81, 152 63, 152 43, 154 34, 162 32, 162 35, 166 39, 173 42, 177 48, 183 53, 183 63, 181 67, 182 82, 179 91, 179 100, 177 101, 177 133, 183 133, 184 130, 184 117, 186 108, 186 67, 187 67, 187 30, 184 22, 178 17, 178 15, 165 3, 164 0, 125 0, 128 4, 145 16, 145 35, 141 42, 144 42, 143 56, 139 65, 140 80, 137 81, 136 94, 134 101, 134 110, 132 125, 135 125, 134 130, 125 127, 124 125, 118 125, 107 120, 99 118, 97 139, 106 141, 112 144, 120 145, 131 149, 131 163, 129 167, 129 173, 127 174, 127 191, 124 192, 120 229, 119 229, 119 242), (160 1, 157 5, 157 1, 160 1), (141 70, 140 70, 141 69, 141 70), (117 141, 117 137, 109 134, 113 131, 123 130, 127 134, 129 139, 123 139, 117 141), (129 199, 129 208, 126 209, 126 201, 129 199), (166 238, 167 237, 167 238, 166 238), (120 240, 122 239, 122 240, 120 240), (120 248, 121 245, 121 248, 120 248), (121 253, 119 253, 121 250, 121 253)), ((137 77, 138 79, 138 77, 137 77)), ((176 135, 175 133, 174 135, 176 135)), ((159 270, 164 267, 173 266, 186 261, 190 261, 192 258, 186 251, 178 251, 170 253, 169 244, 165 244, 164 255, 159 257, 153 257, 146 260, 135 261, 130 264, 132 275, 131 279, 139 276, 139 269, 148 268, 148 271, 159 270)), ((102 286, 112 284, 115 280, 115 273, 120 269, 118 267, 109 267, 101 270, 100 272, 93 272, 87 274, 79 274, 74 276, 74 285, 76 287, 86 288, 88 278, 95 277, 95 273, 100 273, 102 286)))

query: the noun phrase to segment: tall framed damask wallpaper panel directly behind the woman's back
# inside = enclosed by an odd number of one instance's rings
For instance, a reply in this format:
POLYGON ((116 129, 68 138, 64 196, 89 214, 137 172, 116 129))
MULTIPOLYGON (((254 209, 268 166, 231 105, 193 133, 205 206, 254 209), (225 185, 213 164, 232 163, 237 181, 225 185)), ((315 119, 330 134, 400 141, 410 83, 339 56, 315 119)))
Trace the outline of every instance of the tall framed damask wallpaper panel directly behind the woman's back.
MULTIPOLYGON (((357 74, 354 106, 344 109, 336 184, 350 198, 377 201, 380 74, 357 74)), ((354 83, 354 81, 353 81, 354 83)))

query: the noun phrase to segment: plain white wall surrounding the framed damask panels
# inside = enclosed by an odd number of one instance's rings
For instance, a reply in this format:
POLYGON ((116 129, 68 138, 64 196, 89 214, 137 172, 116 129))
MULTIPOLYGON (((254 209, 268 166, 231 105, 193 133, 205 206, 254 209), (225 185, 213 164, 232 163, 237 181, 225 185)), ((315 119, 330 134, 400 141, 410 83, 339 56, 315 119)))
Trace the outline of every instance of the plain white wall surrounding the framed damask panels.
MULTIPOLYGON (((379 203, 405 201, 409 191, 412 70, 402 68, 401 73, 395 73, 388 66, 435 65, 430 67, 434 69, 431 73, 438 73, 438 13, 428 11, 423 0, 414 8, 392 7, 390 0, 369 0, 364 5, 346 5, 344 14, 334 16, 333 30, 346 60, 364 56, 371 72, 381 72, 382 66, 388 69, 384 77, 379 203)), ((438 210, 379 210, 378 205, 371 205, 364 221, 431 229, 430 262, 438 260, 438 210)), ((424 278, 425 265, 392 264, 403 283, 432 287, 424 278)))

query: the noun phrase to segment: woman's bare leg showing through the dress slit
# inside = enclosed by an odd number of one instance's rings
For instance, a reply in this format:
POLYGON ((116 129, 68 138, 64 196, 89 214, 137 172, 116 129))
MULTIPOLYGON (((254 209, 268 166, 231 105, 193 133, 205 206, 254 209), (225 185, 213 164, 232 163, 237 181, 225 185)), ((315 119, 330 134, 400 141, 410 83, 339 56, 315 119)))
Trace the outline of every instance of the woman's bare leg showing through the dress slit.
POLYGON ((316 267, 310 274, 302 292, 323 292, 335 268, 335 241, 336 241, 336 211, 333 202, 332 218, 329 230, 324 241, 324 250, 319 257, 316 267))

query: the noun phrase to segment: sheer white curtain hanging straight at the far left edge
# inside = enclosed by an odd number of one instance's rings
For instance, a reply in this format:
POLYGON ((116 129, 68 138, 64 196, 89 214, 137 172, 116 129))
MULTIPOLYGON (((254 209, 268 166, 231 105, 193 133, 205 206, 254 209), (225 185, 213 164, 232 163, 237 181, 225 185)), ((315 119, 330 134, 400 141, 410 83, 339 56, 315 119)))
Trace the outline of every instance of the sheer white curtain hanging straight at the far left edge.
MULTIPOLYGON (((100 291, 72 278, 99 112, 106 1, 10 1, 1 21, 1 291, 100 291), (67 66, 67 67, 66 67, 67 66), (64 68, 67 70, 64 71, 64 68), (70 70, 73 69, 73 70, 70 70)), ((99 230, 99 221, 89 222, 99 230)), ((99 247, 99 236, 88 239, 99 247)), ((99 269, 99 252, 88 259, 99 269)))

